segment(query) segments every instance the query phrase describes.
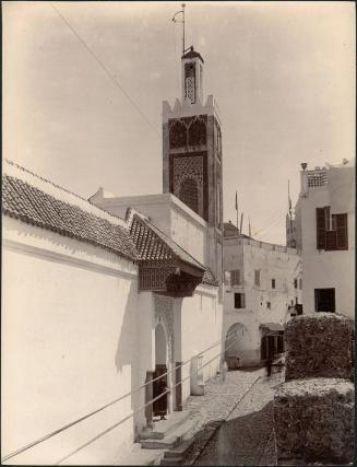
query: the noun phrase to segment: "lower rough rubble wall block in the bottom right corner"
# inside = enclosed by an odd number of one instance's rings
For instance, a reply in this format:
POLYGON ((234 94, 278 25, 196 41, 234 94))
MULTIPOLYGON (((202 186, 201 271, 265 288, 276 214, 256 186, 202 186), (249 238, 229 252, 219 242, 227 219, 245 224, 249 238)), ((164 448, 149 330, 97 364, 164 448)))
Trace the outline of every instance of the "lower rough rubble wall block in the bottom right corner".
POLYGON ((354 456, 354 385, 340 378, 296 380, 274 398, 279 464, 349 463, 354 456))

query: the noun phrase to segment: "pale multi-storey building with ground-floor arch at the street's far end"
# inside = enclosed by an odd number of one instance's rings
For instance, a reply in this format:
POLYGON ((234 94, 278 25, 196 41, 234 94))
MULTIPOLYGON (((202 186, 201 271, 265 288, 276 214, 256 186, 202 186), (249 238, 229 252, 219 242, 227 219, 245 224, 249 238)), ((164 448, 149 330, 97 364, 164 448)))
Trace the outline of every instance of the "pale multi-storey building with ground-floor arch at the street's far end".
POLYGON ((284 351, 284 324, 301 304, 301 258, 294 248, 239 235, 233 224, 225 224, 223 252, 226 359, 230 366, 237 358, 255 365, 284 351))

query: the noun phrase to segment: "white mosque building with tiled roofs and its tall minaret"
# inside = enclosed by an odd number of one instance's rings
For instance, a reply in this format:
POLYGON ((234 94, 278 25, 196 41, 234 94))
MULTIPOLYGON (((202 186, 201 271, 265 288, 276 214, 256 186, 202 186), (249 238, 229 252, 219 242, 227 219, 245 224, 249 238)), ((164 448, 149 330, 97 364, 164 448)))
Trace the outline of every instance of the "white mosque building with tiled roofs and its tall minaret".
POLYGON ((87 201, 4 163, 8 464, 116 463, 153 424, 153 378, 168 372, 172 413, 221 366, 221 128, 202 65, 188 51, 183 101, 164 103, 163 195, 87 201))

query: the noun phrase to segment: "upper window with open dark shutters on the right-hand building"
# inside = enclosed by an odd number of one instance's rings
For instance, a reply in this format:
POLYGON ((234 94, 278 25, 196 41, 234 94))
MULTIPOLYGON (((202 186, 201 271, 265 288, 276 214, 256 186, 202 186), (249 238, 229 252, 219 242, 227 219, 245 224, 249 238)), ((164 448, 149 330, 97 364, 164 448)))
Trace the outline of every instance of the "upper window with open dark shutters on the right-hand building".
POLYGON ((347 214, 331 214, 329 206, 317 208, 317 248, 348 249, 347 214))

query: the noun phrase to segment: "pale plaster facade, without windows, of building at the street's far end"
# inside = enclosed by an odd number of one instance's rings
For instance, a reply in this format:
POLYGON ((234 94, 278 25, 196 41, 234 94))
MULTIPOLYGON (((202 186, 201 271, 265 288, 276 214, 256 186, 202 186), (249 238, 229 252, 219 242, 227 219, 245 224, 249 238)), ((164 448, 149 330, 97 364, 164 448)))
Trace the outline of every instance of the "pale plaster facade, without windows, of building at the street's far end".
POLYGON ((242 365, 260 361, 263 323, 284 325, 289 318, 288 305, 301 303, 301 291, 294 279, 301 278, 301 259, 291 248, 238 237, 224 241, 224 270, 240 270, 240 285, 226 284, 224 300, 225 335, 238 330, 236 352, 242 365), (254 271, 260 270, 260 285, 254 271), (272 288, 275 279, 275 289, 272 288), (245 293, 246 307, 235 308, 235 293, 245 293), (240 327, 234 326, 239 323, 240 327))

